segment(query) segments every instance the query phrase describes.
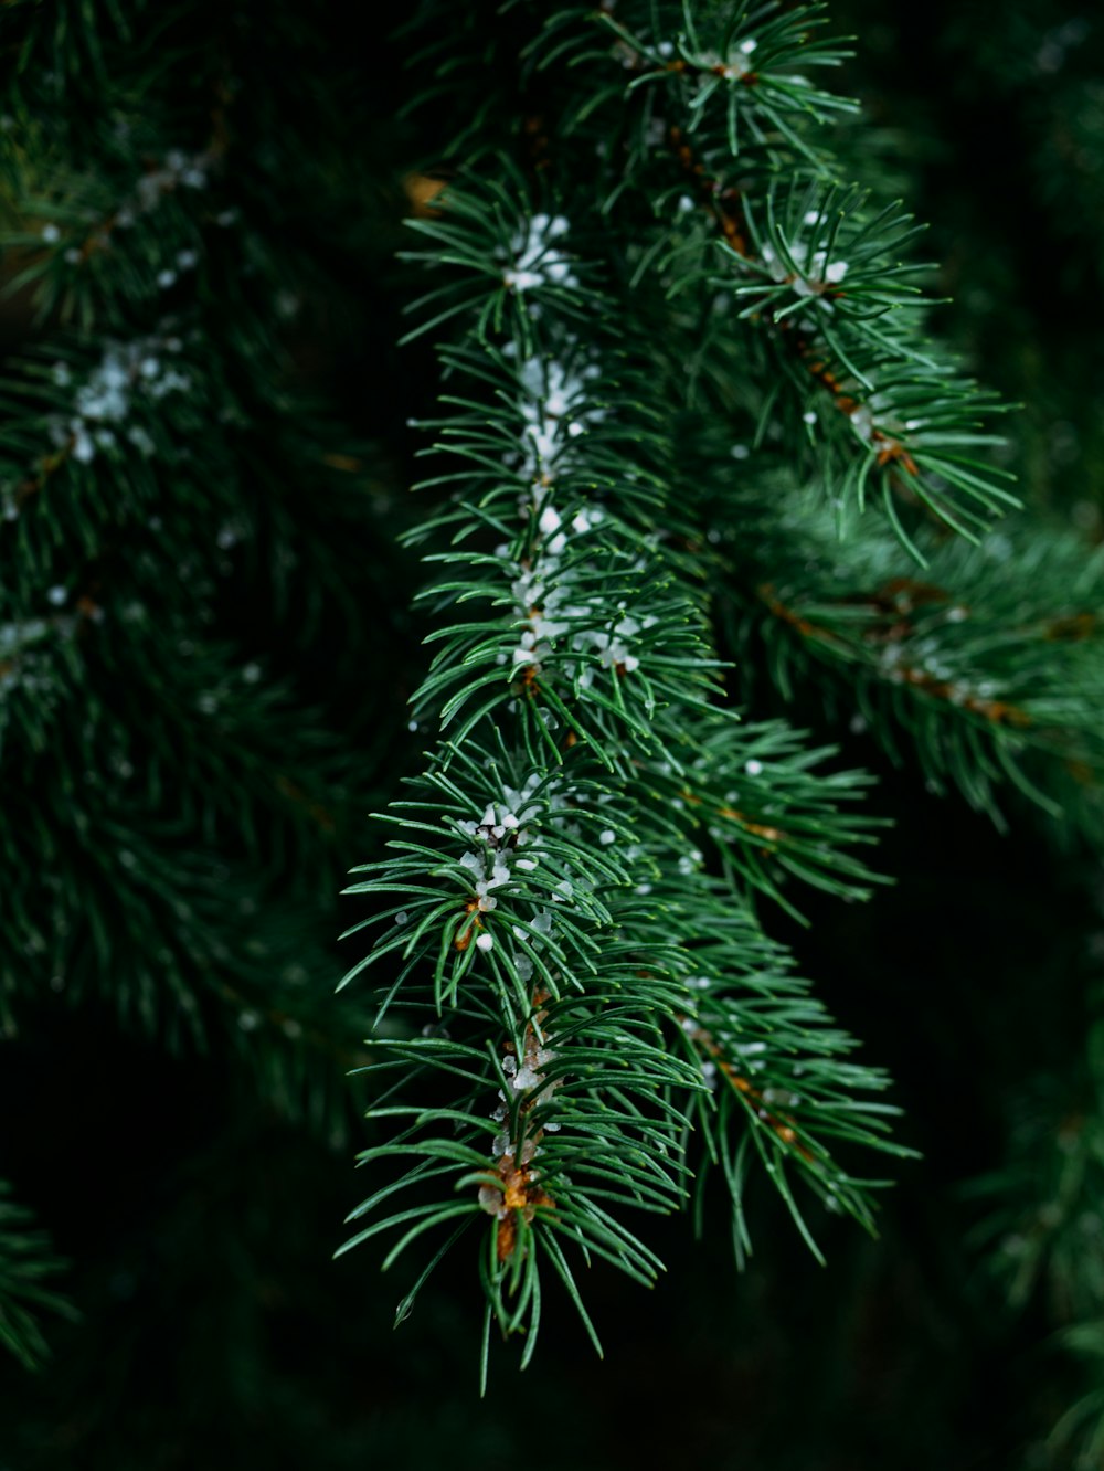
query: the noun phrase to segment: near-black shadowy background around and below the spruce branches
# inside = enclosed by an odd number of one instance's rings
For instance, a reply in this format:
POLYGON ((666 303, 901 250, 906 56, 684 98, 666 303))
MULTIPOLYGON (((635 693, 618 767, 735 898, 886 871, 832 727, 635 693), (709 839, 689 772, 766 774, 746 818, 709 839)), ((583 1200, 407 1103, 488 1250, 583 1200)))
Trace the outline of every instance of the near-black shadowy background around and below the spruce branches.
MULTIPOLYGON (((845 85, 869 109, 861 166, 932 222, 938 287, 957 299, 939 328, 983 381, 1023 402, 1010 431, 1025 494, 1095 540, 1104 19, 1022 0, 854 3, 834 19, 860 38, 845 85)), ((393 122, 410 85, 397 71, 403 43, 376 38, 350 62, 335 12, 320 29, 325 44, 303 65, 354 87, 351 156, 363 150, 366 171, 395 179, 431 157, 432 115, 393 122)), ((347 296, 313 303, 298 363, 382 446, 401 485, 413 478, 403 425, 431 402, 432 365, 394 347, 409 281, 388 256, 395 196, 381 199, 378 218, 359 224, 359 269, 348 249, 328 263, 347 296)), ((391 519, 376 516, 365 547, 366 643, 343 649, 375 671, 363 700, 347 697, 347 728, 370 747, 381 793, 409 756, 394 734, 394 669, 422 659, 391 519)), ((256 615, 228 616, 248 630, 256 615)), ((337 666, 334 637, 323 622, 303 660, 319 684, 337 666)), ((71 1258, 65 1284, 84 1317, 51 1325, 46 1371, 0 1365, 0 1471, 1064 1465, 1041 1447, 1078 1386, 1050 1344, 1055 1315, 1044 1300, 1006 1309, 970 1239, 985 1212, 964 1187, 1004 1158, 1033 1080, 1069 1081, 1100 968, 1098 868, 1017 809, 1000 837, 889 771, 811 702, 800 719, 878 771, 873 802, 897 815, 881 855, 892 890, 861 908, 811 902, 807 931, 772 925, 864 1056, 897 1078, 901 1137, 923 1153, 885 1193, 879 1240, 825 1219, 820 1269, 757 1181, 757 1249, 742 1275, 717 1197, 703 1243, 687 1222, 662 1224, 669 1271, 653 1293, 594 1268, 604 1364, 560 1302, 532 1368, 519 1375, 513 1353, 497 1352, 479 1402, 473 1269, 457 1259, 441 1271, 393 1333, 401 1268, 381 1278, 370 1247, 329 1261, 363 1193, 351 1164, 368 1134, 351 1099, 344 1131, 334 1119, 304 1128, 265 1103, 235 1052, 168 1055, 122 1034, 106 1006, 44 1002, 24 1009, 0 1053, 0 1174, 71 1258)), ((369 856, 366 841, 357 830, 335 868, 369 856)), ((322 928, 351 916, 335 900, 322 928)), ((344 964, 335 946, 332 974, 312 981, 329 987, 344 964)))

